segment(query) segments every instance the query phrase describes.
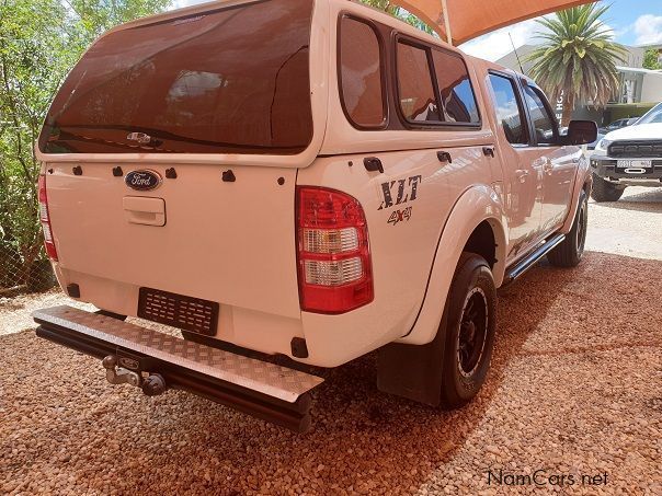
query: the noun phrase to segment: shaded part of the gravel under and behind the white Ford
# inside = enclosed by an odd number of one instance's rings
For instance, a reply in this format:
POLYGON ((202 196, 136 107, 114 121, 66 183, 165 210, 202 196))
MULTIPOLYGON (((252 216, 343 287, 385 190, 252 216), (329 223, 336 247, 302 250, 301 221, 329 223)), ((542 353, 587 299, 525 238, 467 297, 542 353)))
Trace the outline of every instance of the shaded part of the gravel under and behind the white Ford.
MULTIPOLYGON (((605 276, 624 265, 662 274, 660 262, 586 253, 575 269, 540 265, 500 291, 492 369, 465 408, 441 412, 378 392, 370 355, 328 371, 317 392, 313 430, 304 436, 184 393, 147 399, 129 387, 113 388, 95 359, 37 342, 32 333, 3 336, 0 360, 12 372, 0 379, 7 401, 0 408, 9 414, 0 419, 0 452, 12 454, 0 460, 0 474, 12 480, 27 471, 33 480, 48 481, 55 470, 65 477, 58 487, 64 492, 80 484, 85 491, 136 494, 411 493, 432 472, 445 472, 494 395, 507 394, 499 388, 506 367, 526 355, 527 338, 549 319, 551 307, 605 292, 610 298, 618 285, 604 284, 605 276), (23 451, 12 451, 21 442, 23 451)), ((461 484, 460 475, 449 478, 461 484)))

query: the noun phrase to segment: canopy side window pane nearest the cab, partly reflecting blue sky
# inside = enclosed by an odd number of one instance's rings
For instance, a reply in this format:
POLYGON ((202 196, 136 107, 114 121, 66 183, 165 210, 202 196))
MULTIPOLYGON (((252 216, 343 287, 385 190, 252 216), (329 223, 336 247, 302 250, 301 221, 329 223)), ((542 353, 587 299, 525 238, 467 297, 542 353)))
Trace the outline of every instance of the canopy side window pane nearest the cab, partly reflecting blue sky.
POLYGON ((479 123, 476 96, 461 58, 433 50, 434 72, 442 96, 444 120, 454 123, 479 123))

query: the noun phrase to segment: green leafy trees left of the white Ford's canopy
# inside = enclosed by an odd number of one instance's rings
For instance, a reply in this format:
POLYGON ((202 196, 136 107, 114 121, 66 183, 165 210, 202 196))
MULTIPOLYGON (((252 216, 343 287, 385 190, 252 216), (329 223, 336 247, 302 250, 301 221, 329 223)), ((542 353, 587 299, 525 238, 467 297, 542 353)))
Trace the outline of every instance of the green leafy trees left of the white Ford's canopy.
POLYGON ((14 282, 43 255, 34 142, 55 92, 99 34, 169 3, 0 0, 0 266, 20 265, 14 282))

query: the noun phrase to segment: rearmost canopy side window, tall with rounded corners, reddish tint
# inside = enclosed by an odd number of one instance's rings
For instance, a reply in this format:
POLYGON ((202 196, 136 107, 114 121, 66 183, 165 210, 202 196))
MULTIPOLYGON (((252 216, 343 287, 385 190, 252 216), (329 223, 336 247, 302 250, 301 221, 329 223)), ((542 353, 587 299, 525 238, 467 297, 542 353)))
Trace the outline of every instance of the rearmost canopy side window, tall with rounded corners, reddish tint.
POLYGON ((377 34, 366 23, 352 18, 342 20, 340 33, 340 70, 345 111, 358 126, 379 127, 386 115, 377 34))

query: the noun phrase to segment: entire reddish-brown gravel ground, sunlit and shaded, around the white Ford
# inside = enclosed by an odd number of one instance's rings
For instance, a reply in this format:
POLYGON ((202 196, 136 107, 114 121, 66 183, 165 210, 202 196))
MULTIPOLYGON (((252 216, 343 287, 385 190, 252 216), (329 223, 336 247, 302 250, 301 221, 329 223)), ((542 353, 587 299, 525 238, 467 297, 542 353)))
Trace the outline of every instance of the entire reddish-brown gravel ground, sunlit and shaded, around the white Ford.
POLYGON ((500 291, 488 382, 457 412, 379 393, 368 356, 328 372, 313 430, 295 435, 112 387, 98 360, 35 337, 28 311, 59 293, 0 300, 0 494, 661 495, 662 204, 627 193, 591 204, 580 267, 500 291), (540 488, 512 485, 536 471, 540 488))

